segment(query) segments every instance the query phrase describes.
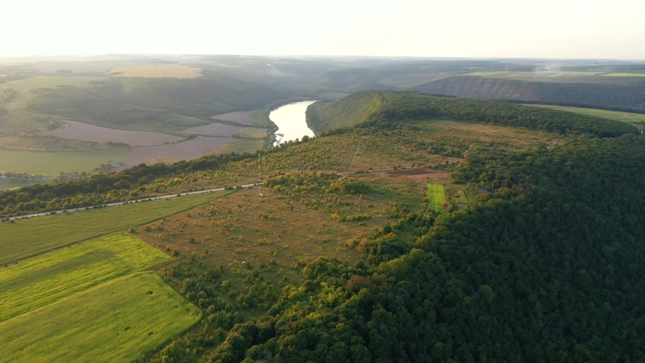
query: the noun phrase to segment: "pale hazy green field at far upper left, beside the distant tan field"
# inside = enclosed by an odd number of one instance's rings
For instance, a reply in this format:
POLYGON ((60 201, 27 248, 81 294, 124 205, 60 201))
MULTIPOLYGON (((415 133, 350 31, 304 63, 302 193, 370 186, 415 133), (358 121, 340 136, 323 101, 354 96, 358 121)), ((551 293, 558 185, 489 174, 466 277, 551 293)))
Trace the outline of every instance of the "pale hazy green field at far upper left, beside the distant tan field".
POLYGON ((94 81, 96 77, 42 77, 36 76, 32 78, 19 79, 17 81, 8 81, 7 83, 0 84, 0 93, 12 88, 17 93, 15 98, 5 105, 8 109, 22 109, 25 107, 27 101, 31 98, 31 90, 37 88, 57 88, 57 87, 83 87, 89 81, 94 81))

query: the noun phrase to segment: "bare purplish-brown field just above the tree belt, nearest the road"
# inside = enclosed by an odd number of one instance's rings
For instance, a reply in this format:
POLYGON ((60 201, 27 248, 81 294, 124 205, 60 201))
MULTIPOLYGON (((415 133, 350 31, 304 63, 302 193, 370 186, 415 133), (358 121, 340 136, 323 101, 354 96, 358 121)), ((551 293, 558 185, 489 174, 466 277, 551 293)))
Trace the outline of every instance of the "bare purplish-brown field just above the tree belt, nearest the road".
POLYGON ((117 161, 125 163, 122 168, 124 169, 132 165, 147 163, 153 159, 188 160, 217 152, 221 147, 232 143, 234 140, 232 138, 207 138, 200 136, 180 143, 143 146, 134 149, 130 154, 119 158, 117 161))

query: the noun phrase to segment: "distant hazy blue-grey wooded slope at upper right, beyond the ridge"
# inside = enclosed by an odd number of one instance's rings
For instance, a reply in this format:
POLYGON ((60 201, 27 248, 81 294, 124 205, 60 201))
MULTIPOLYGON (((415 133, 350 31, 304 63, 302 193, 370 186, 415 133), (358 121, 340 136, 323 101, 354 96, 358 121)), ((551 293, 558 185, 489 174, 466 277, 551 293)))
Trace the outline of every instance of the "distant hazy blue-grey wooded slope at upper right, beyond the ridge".
POLYGON ((414 89, 468 98, 517 99, 552 105, 645 110, 645 81, 612 85, 459 76, 426 83, 414 89))

